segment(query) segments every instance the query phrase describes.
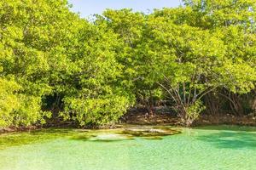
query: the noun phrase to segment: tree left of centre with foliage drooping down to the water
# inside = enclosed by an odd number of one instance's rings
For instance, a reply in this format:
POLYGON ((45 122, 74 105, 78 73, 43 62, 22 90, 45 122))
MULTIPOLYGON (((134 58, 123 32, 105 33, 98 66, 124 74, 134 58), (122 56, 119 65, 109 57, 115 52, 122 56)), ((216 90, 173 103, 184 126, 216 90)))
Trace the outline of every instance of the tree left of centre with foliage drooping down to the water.
POLYGON ((132 104, 120 80, 123 65, 116 59, 117 37, 104 27, 82 22, 67 46, 67 65, 60 83, 64 111, 61 116, 79 126, 99 127, 119 120, 132 104))

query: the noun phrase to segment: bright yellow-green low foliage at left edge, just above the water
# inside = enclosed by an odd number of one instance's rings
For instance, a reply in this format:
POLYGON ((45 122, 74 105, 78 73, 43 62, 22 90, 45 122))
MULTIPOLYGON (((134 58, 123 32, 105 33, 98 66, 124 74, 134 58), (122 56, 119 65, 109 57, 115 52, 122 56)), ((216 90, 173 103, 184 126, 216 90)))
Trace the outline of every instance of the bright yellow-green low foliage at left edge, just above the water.
POLYGON ((0 88, 0 127, 44 123, 44 116, 50 116, 41 111, 41 98, 20 94, 21 87, 16 82, 0 79, 0 88))

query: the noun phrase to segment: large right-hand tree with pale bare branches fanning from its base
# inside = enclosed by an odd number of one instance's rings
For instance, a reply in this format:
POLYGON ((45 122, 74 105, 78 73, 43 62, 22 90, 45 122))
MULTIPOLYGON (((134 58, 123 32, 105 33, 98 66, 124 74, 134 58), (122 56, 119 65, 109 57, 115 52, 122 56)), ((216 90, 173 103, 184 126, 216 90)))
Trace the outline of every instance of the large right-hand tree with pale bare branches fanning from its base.
MULTIPOLYGON (((228 88, 234 93, 247 93, 254 88, 255 61, 252 48, 255 43, 253 31, 245 32, 245 29, 253 27, 250 18, 242 23, 232 20, 229 25, 212 24, 212 20, 217 21, 210 18, 215 17, 214 14, 207 14, 207 11, 212 12, 212 3, 193 1, 186 4, 190 7, 185 13, 180 11, 186 8, 156 11, 154 20, 157 23, 150 29, 151 35, 154 35, 154 44, 172 48, 172 52, 167 54, 170 64, 166 71, 160 72, 165 80, 160 82, 160 86, 172 97, 178 113, 189 125, 203 109, 201 99, 212 90, 228 88), (197 19, 186 20, 191 17, 197 19), (247 25, 244 26, 246 21, 247 25)), ((243 8, 240 13, 249 12, 250 15, 246 16, 252 17, 251 10, 253 8, 243 8)), ((157 51, 166 52, 166 48, 157 51)))

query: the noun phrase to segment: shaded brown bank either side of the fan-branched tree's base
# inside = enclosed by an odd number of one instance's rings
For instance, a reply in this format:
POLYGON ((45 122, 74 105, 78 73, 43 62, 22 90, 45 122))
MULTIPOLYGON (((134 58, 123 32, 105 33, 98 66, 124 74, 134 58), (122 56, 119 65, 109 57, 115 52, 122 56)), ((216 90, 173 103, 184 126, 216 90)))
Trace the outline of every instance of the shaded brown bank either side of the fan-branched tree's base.
MULTIPOLYGON (((128 124, 171 124, 173 126, 183 126, 180 118, 168 111, 156 111, 154 115, 149 116, 146 111, 130 111, 121 118, 121 122, 128 124)), ((256 126, 256 116, 234 116, 230 114, 206 115, 203 114, 192 124, 195 126, 207 125, 242 125, 256 126)))

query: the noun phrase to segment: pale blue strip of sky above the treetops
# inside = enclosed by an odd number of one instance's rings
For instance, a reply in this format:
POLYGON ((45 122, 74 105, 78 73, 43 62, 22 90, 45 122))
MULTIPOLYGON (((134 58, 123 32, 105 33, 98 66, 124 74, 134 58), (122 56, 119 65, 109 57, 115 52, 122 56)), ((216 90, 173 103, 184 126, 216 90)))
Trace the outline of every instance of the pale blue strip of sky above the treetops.
POLYGON ((181 0, 68 0, 73 4, 73 12, 79 12, 82 17, 91 14, 102 14, 106 8, 133 8, 134 11, 148 12, 154 8, 177 7, 181 0))

